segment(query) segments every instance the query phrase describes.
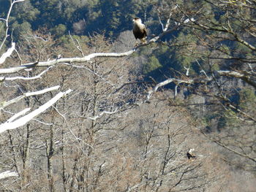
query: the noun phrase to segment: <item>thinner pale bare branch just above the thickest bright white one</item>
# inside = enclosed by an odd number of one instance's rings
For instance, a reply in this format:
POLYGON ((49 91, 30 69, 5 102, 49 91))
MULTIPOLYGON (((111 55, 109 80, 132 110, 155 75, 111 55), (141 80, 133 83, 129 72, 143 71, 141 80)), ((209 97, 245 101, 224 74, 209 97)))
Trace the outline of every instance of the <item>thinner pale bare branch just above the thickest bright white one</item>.
POLYGON ((47 93, 49 91, 55 91, 57 89, 59 89, 59 85, 51 87, 51 88, 45 88, 45 89, 40 90, 40 91, 24 93, 22 96, 18 96, 15 99, 12 99, 10 101, 1 101, 0 110, 3 110, 5 107, 9 106, 10 104, 14 104, 14 103, 20 101, 20 99, 24 99, 27 96, 36 96, 36 95, 40 95, 40 94, 43 94, 43 93, 47 93))

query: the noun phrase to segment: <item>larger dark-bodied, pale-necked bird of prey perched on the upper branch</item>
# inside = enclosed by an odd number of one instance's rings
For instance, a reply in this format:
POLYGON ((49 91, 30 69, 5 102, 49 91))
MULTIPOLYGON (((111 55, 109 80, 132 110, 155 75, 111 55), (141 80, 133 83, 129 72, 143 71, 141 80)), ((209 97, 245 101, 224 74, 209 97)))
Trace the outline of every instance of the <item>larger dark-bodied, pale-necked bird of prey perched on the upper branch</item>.
POLYGON ((140 39, 140 42, 146 43, 147 29, 146 26, 141 22, 140 18, 134 18, 132 32, 135 39, 140 39))

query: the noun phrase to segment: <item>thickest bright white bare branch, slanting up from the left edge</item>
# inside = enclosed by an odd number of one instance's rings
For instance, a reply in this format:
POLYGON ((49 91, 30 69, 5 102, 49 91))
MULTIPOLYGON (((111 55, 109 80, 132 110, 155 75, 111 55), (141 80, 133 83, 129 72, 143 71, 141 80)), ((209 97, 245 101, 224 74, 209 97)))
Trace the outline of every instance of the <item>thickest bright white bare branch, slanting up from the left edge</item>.
POLYGON ((45 112, 45 110, 47 110, 49 107, 51 107, 53 104, 55 104, 56 101, 61 99, 61 97, 66 96, 71 91, 72 90, 69 89, 69 90, 67 90, 65 92, 58 93, 56 96, 53 97, 53 99, 50 99, 50 101, 48 101, 45 104, 43 104, 42 106, 38 107, 37 110, 34 110, 33 112, 30 112, 29 114, 23 116, 22 118, 18 118, 17 120, 14 120, 18 116, 16 114, 15 118, 13 118, 13 117, 10 118, 11 120, 13 120, 12 122, 10 122, 10 119, 9 119, 6 123, 2 123, 0 125, 0 133, 2 133, 4 131, 7 131, 7 130, 10 130, 10 129, 18 128, 20 126, 25 125, 26 123, 29 122, 29 120, 35 118, 37 115, 41 114, 42 112, 45 112))

